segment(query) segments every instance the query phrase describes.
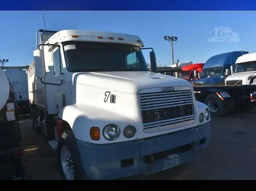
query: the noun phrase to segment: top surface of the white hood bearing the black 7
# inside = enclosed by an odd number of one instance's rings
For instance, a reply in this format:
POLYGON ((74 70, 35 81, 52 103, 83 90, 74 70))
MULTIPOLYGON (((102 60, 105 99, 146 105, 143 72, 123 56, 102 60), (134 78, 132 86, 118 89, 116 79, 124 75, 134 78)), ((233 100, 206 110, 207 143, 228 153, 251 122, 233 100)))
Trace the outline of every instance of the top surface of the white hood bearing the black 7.
POLYGON ((192 88, 186 80, 151 71, 77 72, 72 78, 74 84, 79 83, 130 94, 137 94, 140 89, 165 86, 190 86, 192 88))

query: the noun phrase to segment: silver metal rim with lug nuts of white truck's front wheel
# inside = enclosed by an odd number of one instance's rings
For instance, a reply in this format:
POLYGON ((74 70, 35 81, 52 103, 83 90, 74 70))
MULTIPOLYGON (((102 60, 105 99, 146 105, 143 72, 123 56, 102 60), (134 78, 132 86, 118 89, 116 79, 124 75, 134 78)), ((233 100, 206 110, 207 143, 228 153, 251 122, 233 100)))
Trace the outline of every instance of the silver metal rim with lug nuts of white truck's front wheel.
POLYGON ((63 146, 60 151, 60 160, 63 173, 67 180, 74 180, 74 165, 68 147, 63 146))

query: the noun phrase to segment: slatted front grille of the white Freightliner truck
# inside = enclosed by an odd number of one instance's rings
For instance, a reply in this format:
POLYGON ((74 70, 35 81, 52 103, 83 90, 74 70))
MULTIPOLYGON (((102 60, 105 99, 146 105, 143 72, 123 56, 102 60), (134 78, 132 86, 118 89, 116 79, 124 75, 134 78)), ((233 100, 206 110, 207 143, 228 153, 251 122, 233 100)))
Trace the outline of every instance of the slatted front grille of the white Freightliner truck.
POLYGON ((154 128, 159 129, 167 125, 174 125, 171 128, 176 128, 177 123, 195 120, 191 89, 147 92, 140 93, 139 96, 144 132, 152 132, 156 130, 154 128))

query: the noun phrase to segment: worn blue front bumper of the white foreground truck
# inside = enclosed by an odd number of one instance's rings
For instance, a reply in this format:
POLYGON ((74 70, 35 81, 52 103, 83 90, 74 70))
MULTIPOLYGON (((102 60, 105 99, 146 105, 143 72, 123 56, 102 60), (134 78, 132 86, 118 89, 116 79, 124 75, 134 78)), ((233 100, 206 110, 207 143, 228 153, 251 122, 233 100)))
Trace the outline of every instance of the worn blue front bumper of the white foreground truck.
POLYGON ((171 156, 179 156, 179 164, 185 163, 205 149, 209 141, 210 122, 207 122, 147 139, 104 145, 78 140, 77 145, 89 179, 110 180, 163 171, 165 160, 171 156))

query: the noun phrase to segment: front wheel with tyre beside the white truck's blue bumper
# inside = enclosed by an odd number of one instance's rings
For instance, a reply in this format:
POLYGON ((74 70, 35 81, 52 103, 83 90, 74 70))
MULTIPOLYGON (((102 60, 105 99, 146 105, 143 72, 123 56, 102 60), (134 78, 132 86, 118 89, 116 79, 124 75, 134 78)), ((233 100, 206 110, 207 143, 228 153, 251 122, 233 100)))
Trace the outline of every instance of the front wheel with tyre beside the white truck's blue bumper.
POLYGON ((84 172, 72 130, 64 131, 60 137, 57 159, 63 180, 82 180, 84 172))

